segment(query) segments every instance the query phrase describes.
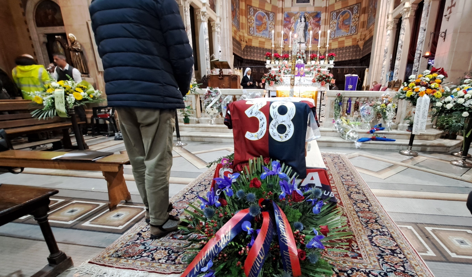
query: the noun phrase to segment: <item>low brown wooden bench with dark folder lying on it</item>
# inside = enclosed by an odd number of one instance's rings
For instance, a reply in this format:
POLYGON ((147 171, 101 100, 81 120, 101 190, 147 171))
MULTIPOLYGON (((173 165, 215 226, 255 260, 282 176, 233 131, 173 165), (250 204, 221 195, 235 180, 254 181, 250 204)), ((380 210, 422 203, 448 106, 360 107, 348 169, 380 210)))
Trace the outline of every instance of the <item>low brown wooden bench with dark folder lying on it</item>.
POLYGON ((33 167, 60 170, 102 171, 107 181, 108 208, 116 209, 122 201, 130 201, 131 195, 123 177, 123 165, 129 164, 126 154, 113 154, 94 162, 51 160, 67 152, 8 150, 0 152, 0 166, 33 167))

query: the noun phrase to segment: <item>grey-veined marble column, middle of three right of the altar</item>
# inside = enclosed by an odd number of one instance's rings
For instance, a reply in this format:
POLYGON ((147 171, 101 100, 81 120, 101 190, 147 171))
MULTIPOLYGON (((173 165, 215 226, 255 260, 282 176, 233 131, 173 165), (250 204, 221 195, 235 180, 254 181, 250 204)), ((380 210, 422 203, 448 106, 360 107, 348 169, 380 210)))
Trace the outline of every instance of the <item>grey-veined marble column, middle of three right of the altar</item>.
POLYGON ((402 26, 400 27, 400 36, 396 49, 395 68, 393 70, 393 80, 405 78, 406 63, 408 60, 408 49, 410 48, 411 33, 414 20, 414 12, 417 4, 406 6, 402 9, 402 26))

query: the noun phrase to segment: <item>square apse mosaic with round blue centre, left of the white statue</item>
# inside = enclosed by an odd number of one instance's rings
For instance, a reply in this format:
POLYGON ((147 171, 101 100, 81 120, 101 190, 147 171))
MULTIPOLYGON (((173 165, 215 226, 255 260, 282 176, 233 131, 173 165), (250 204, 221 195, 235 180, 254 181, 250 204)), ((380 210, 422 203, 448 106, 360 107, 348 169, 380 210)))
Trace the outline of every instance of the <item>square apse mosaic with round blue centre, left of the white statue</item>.
POLYGON ((272 39, 274 25, 274 13, 247 5, 247 33, 256 37, 272 39))

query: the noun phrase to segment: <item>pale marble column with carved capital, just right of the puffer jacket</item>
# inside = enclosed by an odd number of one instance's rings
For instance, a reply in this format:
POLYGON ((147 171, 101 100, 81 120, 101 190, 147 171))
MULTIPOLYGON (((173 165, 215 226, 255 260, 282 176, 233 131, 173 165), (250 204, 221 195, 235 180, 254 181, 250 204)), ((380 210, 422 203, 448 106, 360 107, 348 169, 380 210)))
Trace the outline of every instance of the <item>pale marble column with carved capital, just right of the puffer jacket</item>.
POLYGON ((210 74, 210 40, 208 37, 208 18, 210 17, 206 9, 197 9, 195 11, 198 21, 198 45, 199 45, 199 62, 200 73, 203 75, 210 74))

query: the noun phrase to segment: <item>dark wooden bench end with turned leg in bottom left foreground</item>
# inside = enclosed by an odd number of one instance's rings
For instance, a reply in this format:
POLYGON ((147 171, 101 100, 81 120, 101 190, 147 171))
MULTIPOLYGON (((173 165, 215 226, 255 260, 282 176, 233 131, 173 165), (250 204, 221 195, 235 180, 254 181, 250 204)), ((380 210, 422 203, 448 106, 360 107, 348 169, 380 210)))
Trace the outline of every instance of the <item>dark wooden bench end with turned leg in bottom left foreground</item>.
POLYGON ((72 259, 59 250, 48 221, 49 197, 58 192, 51 188, 0 184, 0 226, 31 214, 41 227, 48 245, 48 264, 36 272, 34 277, 54 277, 74 265, 72 259))

